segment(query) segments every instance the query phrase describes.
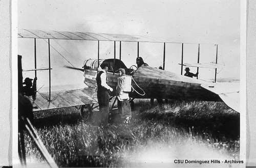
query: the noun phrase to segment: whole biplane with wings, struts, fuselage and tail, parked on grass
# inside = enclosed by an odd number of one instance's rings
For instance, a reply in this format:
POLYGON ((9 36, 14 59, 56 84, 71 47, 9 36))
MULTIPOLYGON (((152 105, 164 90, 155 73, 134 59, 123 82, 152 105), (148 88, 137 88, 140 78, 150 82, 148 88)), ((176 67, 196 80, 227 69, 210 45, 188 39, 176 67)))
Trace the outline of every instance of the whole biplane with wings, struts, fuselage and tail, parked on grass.
MULTIPOLYGON (((133 92, 130 97, 142 99, 173 99, 173 100, 191 100, 191 101, 224 101, 229 107, 236 111, 239 109, 239 83, 218 83, 206 82, 200 79, 189 78, 182 75, 183 66, 183 43, 181 53, 181 74, 175 74, 165 71, 165 44, 177 43, 168 39, 160 39, 156 37, 136 36, 136 35, 120 35, 120 34, 96 34, 84 32, 57 32, 57 31, 39 31, 39 30, 18 30, 18 38, 34 39, 36 60, 36 39, 48 39, 49 48, 49 67, 37 68, 35 61, 35 68, 31 71, 36 72, 40 70, 49 71, 49 91, 37 93, 36 99, 31 101, 36 106, 34 110, 53 109, 60 107, 79 106, 81 115, 88 116, 95 108, 97 108, 97 93, 96 93, 96 75, 101 63, 108 63, 109 71, 108 85, 114 91, 110 96, 115 96, 115 89, 117 85, 117 70, 124 68, 126 74, 132 77, 131 87, 133 92), (90 40, 98 42, 98 55, 97 59, 87 59, 84 61, 82 68, 68 67, 76 70, 81 70, 84 76, 84 87, 72 88, 70 90, 51 90, 51 45, 50 40, 90 40), (114 58, 100 59, 99 58, 99 45, 100 41, 114 42, 114 58), (116 58, 116 42, 120 42, 120 55, 119 59, 116 58), (122 42, 137 42, 137 57, 139 57, 139 44, 140 42, 154 42, 163 43, 163 70, 151 66, 142 66, 137 69, 136 66, 127 68, 121 61, 121 44, 122 42), (86 115, 87 114, 87 115, 86 115)), ((200 47, 200 44, 199 44, 200 47)), ((217 71, 217 57, 218 45, 216 54, 216 63, 211 65, 217 71)), ((198 51, 199 63, 199 51, 198 51)), ((189 66, 189 65, 188 65, 189 66)), ((204 67, 202 65, 196 66, 204 67)), ((207 66, 208 67, 208 66, 207 66)), ((22 68, 20 68, 22 69, 22 68)), ((25 71, 25 70, 22 70, 25 71)), ((67 79, 68 80, 68 79, 67 79)))

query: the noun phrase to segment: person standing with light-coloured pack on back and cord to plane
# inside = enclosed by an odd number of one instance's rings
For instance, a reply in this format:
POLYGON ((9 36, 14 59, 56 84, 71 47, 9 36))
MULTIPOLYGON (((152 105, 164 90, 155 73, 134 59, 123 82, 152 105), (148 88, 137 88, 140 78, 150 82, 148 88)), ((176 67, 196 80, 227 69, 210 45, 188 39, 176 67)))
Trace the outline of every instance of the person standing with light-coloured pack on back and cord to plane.
POLYGON ((124 119, 124 123, 130 123, 132 112, 129 102, 129 93, 124 92, 125 70, 119 68, 118 75, 116 87, 118 112, 121 113, 121 119, 124 119))

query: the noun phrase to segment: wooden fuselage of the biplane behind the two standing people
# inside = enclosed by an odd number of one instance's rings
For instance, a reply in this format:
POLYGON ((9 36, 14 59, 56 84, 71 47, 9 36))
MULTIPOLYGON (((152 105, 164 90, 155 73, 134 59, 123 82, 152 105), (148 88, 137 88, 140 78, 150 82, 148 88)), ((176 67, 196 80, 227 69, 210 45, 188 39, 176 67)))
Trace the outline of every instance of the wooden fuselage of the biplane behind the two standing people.
MULTIPOLYGON (((126 69, 129 71, 129 69, 126 69)), ((116 94, 117 73, 107 72, 108 85, 113 88, 112 96, 116 94)), ((96 86, 97 70, 84 70, 84 83, 96 86)), ((202 80, 194 79, 150 66, 142 66, 132 74, 132 87, 129 95, 132 98, 173 99, 191 101, 222 101, 220 97, 201 87, 202 80), (137 91, 137 92, 136 92, 137 91), (145 94, 144 94, 145 93, 145 94)))

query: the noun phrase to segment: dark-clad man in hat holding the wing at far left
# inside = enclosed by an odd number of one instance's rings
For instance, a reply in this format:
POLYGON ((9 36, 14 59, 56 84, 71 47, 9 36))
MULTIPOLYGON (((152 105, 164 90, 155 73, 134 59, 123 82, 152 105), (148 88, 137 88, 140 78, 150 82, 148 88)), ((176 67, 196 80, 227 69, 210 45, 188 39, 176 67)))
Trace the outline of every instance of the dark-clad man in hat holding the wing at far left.
POLYGON ((35 100, 37 77, 34 78, 33 84, 32 84, 32 80, 33 79, 26 77, 26 79, 23 82, 23 85, 25 86, 22 89, 22 93, 23 95, 26 95, 26 96, 32 96, 33 100, 35 100))

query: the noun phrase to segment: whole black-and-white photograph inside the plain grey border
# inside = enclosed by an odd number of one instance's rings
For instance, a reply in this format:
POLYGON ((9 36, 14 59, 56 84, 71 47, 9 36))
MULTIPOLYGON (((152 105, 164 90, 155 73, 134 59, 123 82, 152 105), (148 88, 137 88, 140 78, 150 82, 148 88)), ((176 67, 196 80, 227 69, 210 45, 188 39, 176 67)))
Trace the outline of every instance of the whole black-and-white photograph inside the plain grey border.
POLYGON ((245 166, 240 10, 220 0, 18 1, 13 165, 245 166))

